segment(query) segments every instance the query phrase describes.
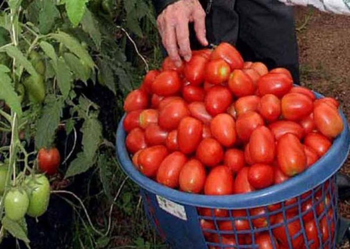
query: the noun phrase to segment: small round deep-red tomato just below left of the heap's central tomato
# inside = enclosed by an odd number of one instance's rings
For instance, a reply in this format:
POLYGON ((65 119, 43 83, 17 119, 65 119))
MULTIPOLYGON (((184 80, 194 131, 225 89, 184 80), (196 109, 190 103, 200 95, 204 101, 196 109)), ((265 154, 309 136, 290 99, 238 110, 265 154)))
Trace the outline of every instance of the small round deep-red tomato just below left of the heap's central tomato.
POLYGON ((203 139, 198 145, 196 157, 206 166, 212 167, 221 162, 224 151, 218 141, 213 138, 203 139))

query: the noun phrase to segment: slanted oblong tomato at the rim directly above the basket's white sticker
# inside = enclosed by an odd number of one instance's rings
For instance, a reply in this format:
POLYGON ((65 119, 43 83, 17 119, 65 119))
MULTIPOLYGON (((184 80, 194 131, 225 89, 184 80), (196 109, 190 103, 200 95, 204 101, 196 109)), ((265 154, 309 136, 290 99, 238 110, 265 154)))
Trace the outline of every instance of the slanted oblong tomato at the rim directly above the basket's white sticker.
POLYGON ((159 165, 157 182, 172 189, 177 188, 179 186, 179 175, 186 161, 187 157, 179 151, 167 155, 159 165))

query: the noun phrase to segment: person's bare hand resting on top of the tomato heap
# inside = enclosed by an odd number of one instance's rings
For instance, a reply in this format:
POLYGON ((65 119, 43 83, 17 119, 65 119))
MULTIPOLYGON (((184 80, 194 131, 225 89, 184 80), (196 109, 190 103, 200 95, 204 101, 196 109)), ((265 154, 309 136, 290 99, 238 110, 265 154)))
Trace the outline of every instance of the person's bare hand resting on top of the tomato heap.
POLYGON ((178 67, 181 66, 181 57, 186 61, 191 59, 190 22, 194 22, 199 42, 207 46, 205 12, 198 0, 180 0, 167 6, 157 18, 162 43, 178 67))

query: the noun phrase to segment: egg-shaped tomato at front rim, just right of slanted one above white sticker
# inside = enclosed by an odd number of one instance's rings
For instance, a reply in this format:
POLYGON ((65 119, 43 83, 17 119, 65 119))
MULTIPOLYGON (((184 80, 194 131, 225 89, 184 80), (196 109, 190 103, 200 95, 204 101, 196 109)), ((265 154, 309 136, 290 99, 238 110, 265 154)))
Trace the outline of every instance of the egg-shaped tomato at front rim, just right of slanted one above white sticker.
POLYGON ((207 173, 204 165, 197 159, 191 159, 185 163, 179 176, 180 189, 184 192, 201 193, 207 173))

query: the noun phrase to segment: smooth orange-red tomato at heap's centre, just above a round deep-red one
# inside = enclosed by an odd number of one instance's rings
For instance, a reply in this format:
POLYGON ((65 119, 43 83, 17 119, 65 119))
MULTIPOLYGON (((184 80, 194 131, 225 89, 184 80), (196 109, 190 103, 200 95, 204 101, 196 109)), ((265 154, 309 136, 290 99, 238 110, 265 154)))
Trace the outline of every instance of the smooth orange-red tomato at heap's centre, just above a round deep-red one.
POLYGON ((235 121, 227 113, 216 115, 210 122, 212 136, 223 146, 230 147, 236 142, 235 121))

